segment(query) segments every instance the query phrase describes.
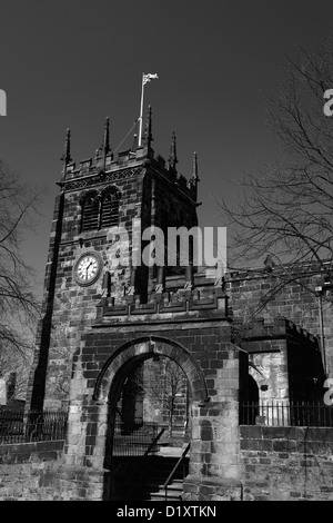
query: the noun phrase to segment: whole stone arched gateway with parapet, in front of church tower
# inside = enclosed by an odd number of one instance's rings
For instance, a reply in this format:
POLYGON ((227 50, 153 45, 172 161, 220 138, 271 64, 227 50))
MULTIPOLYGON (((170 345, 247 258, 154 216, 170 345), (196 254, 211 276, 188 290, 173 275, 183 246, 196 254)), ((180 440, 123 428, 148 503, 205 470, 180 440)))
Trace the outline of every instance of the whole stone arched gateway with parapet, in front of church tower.
MULTIPOLYGON (((228 341, 229 320, 205 322, 185 313, 184 328, 178 329, 174 319, 143 325, 138 314, 120 326, 114 318, 108 320, 108 310, 105 305, 102 319, 82 337, 80 354, 74 357, 67 463, 107 470, 112 481, 112 460, 107 458, 112 454, 110 441, 120 391, 139 364, 168 358, 181 367, 190 388, 191 451, 184 499, 200 500, 205 482, 211 499, 225 495, 225 482, 229 490, 239 492, 240 372, 248 373, 248 363, 242 359, 244 353, 228 341), (135 337, 135 330, 141 336, 135 337), (93 372, 88 371, 93 366, 93 372)), ((216 319, 219 313, 215 307, 216 319)))

